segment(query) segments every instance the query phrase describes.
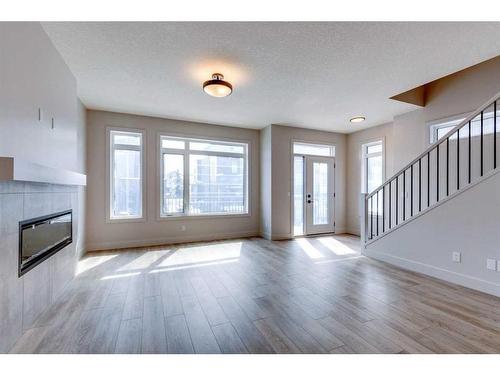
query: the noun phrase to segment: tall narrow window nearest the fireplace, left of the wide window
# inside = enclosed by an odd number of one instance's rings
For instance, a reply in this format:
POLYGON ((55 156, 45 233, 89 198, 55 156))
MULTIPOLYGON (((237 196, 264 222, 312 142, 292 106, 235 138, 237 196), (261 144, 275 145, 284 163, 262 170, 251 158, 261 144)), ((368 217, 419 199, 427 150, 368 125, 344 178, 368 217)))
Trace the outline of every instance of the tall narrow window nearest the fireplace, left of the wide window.
POLYGON ((110 131, 110 219, 143 217, 142 155, 142 133, 110 131))

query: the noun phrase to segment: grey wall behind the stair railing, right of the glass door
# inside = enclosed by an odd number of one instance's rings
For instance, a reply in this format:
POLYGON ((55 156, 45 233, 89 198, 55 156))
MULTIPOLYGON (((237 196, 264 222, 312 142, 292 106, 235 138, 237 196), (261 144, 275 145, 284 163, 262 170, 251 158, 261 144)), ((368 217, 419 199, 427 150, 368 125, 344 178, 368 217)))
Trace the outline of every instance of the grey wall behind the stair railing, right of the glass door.
MULTIPOLYGON (((470 113, 498 92, 500 92, 500 57, 428 84, 424 108, 396 116, 392 123, 349 134, 347 136, 348 232, 359 234, 361 144, 385 138, 385 176, 390 178, 429 146, 429 122, 470 113)), ((487 143, 489 144, 491 142, 487 143)))

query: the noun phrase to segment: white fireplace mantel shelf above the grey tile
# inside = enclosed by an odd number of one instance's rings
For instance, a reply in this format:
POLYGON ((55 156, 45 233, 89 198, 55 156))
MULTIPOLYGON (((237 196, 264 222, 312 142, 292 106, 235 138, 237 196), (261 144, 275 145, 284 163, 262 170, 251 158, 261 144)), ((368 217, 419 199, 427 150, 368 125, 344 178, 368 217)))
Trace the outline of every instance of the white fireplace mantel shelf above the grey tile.
POLYGON ((87 176, 66 169, 47 167, 14 157, 0 157, 0 181, 87 185, 87 176))

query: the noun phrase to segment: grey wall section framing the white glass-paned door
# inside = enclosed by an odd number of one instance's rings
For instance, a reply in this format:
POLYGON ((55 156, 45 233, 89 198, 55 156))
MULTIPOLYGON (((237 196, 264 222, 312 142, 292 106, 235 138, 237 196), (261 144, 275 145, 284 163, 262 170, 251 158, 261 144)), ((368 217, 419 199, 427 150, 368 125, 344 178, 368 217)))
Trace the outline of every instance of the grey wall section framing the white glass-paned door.
MULTIPOLYGON (((326 143, 335 146, 335 221, 336 233, 345 232, 345 173, 346 173, 346 135, 310 129, 271 125, 271 185, 266 184, 262 196, 271 197, 271 205, 263 213, 271 223, 272 239, 293 237, 292 229, 292 144, 294 141, 326 143), (269 190, 270 189, 270 190, 269 190), (269 218, 270 216, 270 218, 269 218)), ((267 137, 266 137, 267 138, 267 137)))

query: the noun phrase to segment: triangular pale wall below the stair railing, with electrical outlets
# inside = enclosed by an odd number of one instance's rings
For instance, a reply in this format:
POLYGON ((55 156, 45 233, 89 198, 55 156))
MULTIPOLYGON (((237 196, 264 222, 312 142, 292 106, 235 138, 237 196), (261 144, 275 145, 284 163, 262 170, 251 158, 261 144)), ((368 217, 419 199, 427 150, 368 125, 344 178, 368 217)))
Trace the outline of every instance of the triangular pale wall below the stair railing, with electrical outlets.
POLYGON ((365 255, 500 296, 500 174, 488 178, 372 242, 365 255), (422 235, 425 233, 425 235, 422 235), (452 252, 462 262, 452 262, 452 252))

